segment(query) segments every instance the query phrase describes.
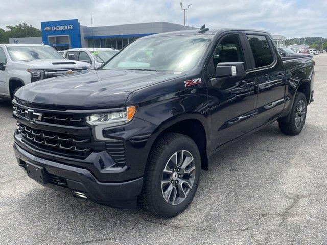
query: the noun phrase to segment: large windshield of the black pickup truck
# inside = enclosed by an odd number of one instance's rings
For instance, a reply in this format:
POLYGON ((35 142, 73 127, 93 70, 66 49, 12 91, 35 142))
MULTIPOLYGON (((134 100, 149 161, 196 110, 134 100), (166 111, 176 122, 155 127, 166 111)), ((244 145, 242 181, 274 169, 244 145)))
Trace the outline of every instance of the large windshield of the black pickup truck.
POLYGON ((194 68, 212 36, 171 36, 139 39, 102 69, 146 69, 185 72, 194 68))

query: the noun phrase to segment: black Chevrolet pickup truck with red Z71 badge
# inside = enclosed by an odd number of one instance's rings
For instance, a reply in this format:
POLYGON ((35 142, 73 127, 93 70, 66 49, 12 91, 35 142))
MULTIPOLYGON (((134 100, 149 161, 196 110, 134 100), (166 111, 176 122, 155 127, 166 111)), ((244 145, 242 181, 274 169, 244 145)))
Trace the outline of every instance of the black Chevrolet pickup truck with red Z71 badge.
POLYGON ((44 186, 172 217, 213 153, 276 120, 299 134, 313 80, 312 57, 283 62, 267 32, 146 36, 97 70, 19 89, 14 152, 44 186))

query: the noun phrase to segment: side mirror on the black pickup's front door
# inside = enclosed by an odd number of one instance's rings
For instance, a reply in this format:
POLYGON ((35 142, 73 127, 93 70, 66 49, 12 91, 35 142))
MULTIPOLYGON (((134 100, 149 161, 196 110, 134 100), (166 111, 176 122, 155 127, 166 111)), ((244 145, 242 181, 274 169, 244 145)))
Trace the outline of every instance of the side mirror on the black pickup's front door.
POLYGON ((220 62, 216 67, 217 78, 241 78, 246 75, 244 62, 220 62))

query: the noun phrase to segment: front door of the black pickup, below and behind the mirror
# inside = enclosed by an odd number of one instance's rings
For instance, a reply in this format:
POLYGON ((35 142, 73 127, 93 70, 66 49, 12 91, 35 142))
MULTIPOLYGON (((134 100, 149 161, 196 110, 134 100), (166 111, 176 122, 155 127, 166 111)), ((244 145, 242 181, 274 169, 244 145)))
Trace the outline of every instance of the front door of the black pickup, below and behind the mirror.
POLYGON ((248 57, 243 52, 243 36, 230 34, 218 43, 208 74, 208 99, 211 106, 212 150, 253 129, 256 111, 255 73, 241 78, 215 77, 215 67, 221 62, 244 62, 248 57))

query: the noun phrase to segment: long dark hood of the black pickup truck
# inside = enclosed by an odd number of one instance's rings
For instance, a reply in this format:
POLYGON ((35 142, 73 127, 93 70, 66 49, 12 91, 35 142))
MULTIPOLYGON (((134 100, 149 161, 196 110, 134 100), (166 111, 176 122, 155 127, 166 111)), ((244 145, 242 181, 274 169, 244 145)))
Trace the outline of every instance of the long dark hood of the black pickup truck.
POLYGON ((182 76, 153 71, 91 70, 30 83, 20 88, 15 97, 48 108, 124 107, 131 92, 182 76))

